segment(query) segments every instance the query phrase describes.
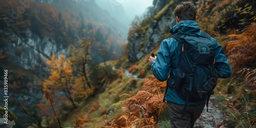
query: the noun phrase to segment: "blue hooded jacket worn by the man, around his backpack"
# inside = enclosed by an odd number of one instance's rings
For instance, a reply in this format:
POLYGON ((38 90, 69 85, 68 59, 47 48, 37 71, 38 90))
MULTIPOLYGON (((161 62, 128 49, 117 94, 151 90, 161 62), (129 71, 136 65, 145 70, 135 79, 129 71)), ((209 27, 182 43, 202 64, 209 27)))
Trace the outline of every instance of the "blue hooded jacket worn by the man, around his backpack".
MULTIPOLYGON (((200 35, 202 31, 198 27, 198 24, 194 20, 181 20, 177 25, 175 25, 170 33, 182 33, 190 34, 195 33, 200 35)), ((221 45, 212 37, 210 40, 216 42, 216 54, 215 54, 215 70, 218 71, 219 78, 227 78, 231 75, 232 70, 228 63, 226 56, 224 55, 221 45)), ((176 68, 178 67, 178 56, 180 50, 177 49, 179 41, 175 38, 164 39, 160 45, 160 48, 157 53, 156 61, 151 63, 152 72, 154 76, 160 80, 165 81, 170 72, 173 72, 175 75, 176 68)), ((178 104, 185 104, 185 100, 180 98, 176 93, 175 89, 168 88, 167 93, 164 98, 166 101, 174 102, 178 104)), ((188 102, 189 104, 200 104, 206 101, 202 100, 200 102, 188 102)))

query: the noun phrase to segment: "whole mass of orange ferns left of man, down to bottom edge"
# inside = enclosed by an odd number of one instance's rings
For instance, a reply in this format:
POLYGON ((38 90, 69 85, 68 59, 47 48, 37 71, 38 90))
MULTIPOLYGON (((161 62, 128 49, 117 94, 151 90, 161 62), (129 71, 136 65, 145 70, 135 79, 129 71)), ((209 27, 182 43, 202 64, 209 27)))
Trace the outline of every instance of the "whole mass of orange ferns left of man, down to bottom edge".
POLYGON ((153 75, 143 79, 137 94, 124 94, 129 98, 124 101, 118 118, 105 120, 104 125, 99 127, 156 127, 156 120, 166 106, 166 102, 163 102, 165 86, 165 82, 157 80, 153 75))

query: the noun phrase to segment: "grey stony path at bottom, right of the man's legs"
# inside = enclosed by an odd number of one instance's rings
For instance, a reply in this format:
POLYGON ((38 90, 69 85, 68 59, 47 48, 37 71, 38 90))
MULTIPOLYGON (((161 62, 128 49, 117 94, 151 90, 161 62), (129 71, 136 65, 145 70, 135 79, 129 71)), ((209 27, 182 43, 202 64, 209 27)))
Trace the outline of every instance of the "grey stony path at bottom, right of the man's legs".
POLYGON ((225 120, 225 116, 221 113, 221 110, 218 106, 216 98, 211 96, 208 104, 208 112, 206 112, 207 108, 205 106, 203 113, 195 122, 194 127, 201 128, 224 128, 223 121, 225 120))

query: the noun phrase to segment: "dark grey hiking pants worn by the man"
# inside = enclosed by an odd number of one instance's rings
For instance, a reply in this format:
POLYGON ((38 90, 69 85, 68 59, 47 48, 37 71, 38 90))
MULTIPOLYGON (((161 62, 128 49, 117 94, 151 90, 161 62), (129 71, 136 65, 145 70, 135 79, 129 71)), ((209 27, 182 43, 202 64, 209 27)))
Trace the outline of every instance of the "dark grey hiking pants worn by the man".
POLYGON ((184 110, 184 105, 176 104, 172 102, 167 102, 170 123, 172 128, 189 128, 194 126, 194 122, 200 117, 204 110, 205 103, 198 105, 187 105, 187 109, 184 118, 181 118, 182 112, 184 110))

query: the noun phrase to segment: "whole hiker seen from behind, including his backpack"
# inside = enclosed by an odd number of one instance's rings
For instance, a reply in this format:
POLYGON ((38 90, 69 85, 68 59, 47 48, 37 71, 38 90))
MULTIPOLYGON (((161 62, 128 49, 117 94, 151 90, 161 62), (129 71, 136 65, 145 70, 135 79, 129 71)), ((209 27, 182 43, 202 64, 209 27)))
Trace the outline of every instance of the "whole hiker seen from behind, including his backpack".
POLYGON ((148 64, 158 80, 165 81, 169 76, 168 80, 173 81, 169 82, 167 80, 164 96, 164 100, 167 101, 172 127, 194 127, 194 122, 200 117, 205 104, 208 103, 209 96, 213 93, 217 78, 227 78, 232 71, 221 45, 198 27, 196 7, 193 3, 182 2, 175 7, 173 14, 177 23, 169 31, 173 36, 161 42, 157 56, 151 56, 148 59, 148 64), (191 51, 194 47, 186 48, 189 43, 187 44, 185 41, 195 40, 193 42, 195 44, 197 39, 199 41, 204 39, 207 42, 206 45, 203 41, 201 44, 196 44, 197 52, 191 51), (196 58, 197 56, 199 58, 196 58), (193 59, 194 61, 192 61, 193 59), (193 72, 190 70, 193 70, 193 72), (193 93, 192 89, 197 86, 197 83, 200 84, 198 86, 201 86, 198 88, 206 86, 203 88, 208 89, 203 91, 198 89, 196 93, 193 93), (187 87, 184 88, 185 86, 187 87), (194 98, 190 93, 201 96, 199 96, 200 98, 194 98), (182 95, 184 96, 182 97, 182 95))

